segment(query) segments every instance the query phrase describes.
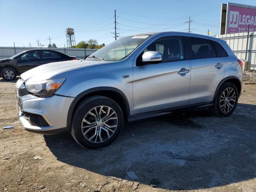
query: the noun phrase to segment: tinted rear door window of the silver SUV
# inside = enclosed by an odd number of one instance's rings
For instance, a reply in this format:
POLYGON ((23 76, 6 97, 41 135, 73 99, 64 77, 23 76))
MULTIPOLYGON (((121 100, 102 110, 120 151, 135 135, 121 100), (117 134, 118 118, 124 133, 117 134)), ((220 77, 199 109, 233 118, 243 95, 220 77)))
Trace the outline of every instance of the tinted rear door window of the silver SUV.
POLYGON ((210 40, 190 37, 190 43, 192 59, 216 57, 215 48, 210 40))

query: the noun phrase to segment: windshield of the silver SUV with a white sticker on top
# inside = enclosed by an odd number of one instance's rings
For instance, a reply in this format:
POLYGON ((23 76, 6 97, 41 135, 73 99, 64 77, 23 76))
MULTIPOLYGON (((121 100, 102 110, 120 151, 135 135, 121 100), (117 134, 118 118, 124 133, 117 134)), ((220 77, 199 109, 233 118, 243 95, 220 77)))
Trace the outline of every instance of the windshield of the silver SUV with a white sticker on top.
POLYGON ((118 61, 126 58, 134 49, 152 35, 122 37, 94 52, 85 60, 118 61))

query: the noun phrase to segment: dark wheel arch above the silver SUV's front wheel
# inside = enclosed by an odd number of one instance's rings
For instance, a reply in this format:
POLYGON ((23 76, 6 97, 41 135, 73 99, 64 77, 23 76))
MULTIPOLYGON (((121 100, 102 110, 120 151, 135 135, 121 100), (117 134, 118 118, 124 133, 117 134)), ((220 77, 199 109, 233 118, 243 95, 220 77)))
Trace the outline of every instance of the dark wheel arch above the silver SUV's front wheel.
POLYGON ((125 94, 120 91, 117 88, 113 87, 96 87, 96 88, 90 88, 76 96, 74 100, 72 101, 69 109, 68 109, 68 116, 67 116, 67 127, 71 127, 72 123, 72 117, 74 110, 78 104, 84 100, 85 98, 88 98, 90 96, 106 96, 112 100, 114 100, 122 109, 122 112, 124 114, 124 119, 127 119, 127 117, 130 115, 130 106, 129 102, 125 96, 125 94))

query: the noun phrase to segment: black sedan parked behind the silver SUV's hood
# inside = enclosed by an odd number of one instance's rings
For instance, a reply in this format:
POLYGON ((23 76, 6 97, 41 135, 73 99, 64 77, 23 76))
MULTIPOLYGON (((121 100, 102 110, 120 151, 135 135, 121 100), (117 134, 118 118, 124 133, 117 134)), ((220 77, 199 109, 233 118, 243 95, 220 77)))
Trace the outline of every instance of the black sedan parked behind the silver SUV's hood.
POLYGON ((42 64, 76 60, 76 57, 50 49, 32 49, 18 53, 7 59, 0 59, 0 74, 7 81, 14 80, 27 70, 42 64))

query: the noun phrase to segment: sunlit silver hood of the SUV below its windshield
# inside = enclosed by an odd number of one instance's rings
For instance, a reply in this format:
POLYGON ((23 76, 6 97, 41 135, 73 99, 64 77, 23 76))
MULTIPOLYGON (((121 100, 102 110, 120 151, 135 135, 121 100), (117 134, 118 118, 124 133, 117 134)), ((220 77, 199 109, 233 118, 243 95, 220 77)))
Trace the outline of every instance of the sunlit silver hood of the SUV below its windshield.
POLYGON ((31 70, 28 70, 21 74, 21 78, 25 82, 36 82, 40 80, 46 80, 54 78, 54 76, 72 70, 75 68, 83 68, 98 64, 109 63, 107 61, 86 61, 86 60, 71 60, 63 62, 48 63, 31 70))

